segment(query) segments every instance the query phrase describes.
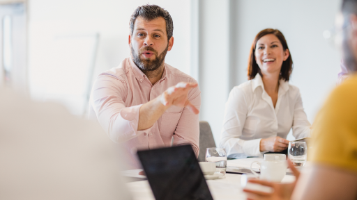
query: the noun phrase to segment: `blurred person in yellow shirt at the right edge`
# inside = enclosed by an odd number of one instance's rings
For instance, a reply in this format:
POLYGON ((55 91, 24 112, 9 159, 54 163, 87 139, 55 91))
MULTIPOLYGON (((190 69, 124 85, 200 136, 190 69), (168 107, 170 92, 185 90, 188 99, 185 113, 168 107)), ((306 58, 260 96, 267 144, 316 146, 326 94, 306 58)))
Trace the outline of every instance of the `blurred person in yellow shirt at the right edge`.
MULTIPOLYGON (((314 123, 310 167, 290 184, 251 180, 273 193, 248 192, 248 199, 357 199, 357 0, 342 1, 337 16, 342 56, 350 77, 330 94, 314 123), (292 196, 291 196, 292 194, 292 196)), ((291 165, 291 164, 290 164, 291 165)))

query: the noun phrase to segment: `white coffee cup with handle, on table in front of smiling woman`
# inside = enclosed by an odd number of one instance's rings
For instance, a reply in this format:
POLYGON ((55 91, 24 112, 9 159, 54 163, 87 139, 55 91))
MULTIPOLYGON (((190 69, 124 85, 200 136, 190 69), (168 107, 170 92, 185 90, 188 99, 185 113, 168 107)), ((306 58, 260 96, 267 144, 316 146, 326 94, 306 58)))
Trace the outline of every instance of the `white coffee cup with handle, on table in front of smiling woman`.
POLYGON ((286 160, 263 160, 261 162, 254 161, 250 164, 250 171, 260 179, 272 182, 280 182, 287 174, 287 161, 286 160), (252 169, 253 163, 260 164, 260 176, 252 169))

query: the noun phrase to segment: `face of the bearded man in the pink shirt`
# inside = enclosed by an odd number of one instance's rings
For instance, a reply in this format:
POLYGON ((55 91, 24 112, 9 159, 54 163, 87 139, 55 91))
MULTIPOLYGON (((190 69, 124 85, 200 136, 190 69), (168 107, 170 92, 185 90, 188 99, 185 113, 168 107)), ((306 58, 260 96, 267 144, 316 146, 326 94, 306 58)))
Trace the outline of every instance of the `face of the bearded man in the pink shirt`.
POLYGON ((131 56, 137 67, 144 71, 158 69, 173 44, 174 37, 167 41, 164 18, 158 17, 147 21, 142 17, 137 17, 132 35, 129 35, 131 56))

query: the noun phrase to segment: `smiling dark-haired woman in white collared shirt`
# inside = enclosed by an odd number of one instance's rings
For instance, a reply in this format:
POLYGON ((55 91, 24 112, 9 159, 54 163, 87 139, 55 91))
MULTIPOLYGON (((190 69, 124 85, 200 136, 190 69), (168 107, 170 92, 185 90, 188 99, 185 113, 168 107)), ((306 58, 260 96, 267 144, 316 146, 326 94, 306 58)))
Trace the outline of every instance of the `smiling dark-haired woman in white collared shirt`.
POLYGON ((229 158, 284 151, 291 128, 295 138, 310 136, 300 90, 289 84, 292 69, 284 35, 278 29, 260 31, 250 50, 250 81, 234 87, 226 103, 220 147, 229 158))

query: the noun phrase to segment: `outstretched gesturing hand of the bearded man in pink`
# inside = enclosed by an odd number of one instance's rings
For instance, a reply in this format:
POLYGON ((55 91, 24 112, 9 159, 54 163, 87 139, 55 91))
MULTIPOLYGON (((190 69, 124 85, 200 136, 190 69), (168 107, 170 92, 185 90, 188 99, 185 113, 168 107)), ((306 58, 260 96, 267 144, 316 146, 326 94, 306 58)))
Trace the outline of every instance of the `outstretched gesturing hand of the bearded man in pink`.
POLYGON ((167 108, 169 106, 186 107, 192 113, 198 114, 199 110, 188 101, 188 91, 197 86, 197 83, 177 83, 161 94, 160 101, 167 108))

